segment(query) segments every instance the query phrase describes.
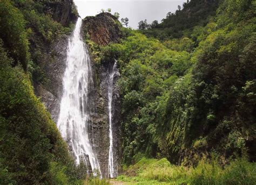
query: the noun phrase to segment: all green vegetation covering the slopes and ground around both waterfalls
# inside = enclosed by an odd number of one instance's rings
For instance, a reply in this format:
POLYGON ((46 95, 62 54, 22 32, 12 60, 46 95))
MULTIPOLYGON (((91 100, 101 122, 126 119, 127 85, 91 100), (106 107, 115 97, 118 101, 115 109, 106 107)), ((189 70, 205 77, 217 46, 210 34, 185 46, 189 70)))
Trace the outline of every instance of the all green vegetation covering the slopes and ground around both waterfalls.
MULTIPOLYGON (((78 17, 69 4, 62 22, 50 4, 0 1, 0 184, 108 184, 75 164, 35 95, 38 84, 49 86, 48 46, 78 17)), ((139 30, 112 16, 115 42, 85 32, 96 68, 117 61, 120 72, 118 181, 256 183, 255 10, 255 0, 191 0, 139 30)))

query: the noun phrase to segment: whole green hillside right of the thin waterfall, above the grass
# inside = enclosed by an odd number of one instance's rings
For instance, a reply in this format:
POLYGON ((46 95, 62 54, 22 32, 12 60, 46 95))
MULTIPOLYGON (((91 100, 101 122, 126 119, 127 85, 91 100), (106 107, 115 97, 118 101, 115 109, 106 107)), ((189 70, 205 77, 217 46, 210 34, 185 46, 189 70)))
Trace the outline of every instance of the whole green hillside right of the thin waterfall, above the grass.
POLYGON ((255 160, 255 1, 211 2, 191 1, 163 20, 172 30, 167 22, 185 19, 188 8, 204 13, 179 33, 162 32, 163 41, 152 29, 149 37, 127 29, 120 43, 91 44, 98 63, 118 61, 126 165, 140 153, 184 165, 211 153, 223 165, 255 160), (217 13, 199 11, 205 6, 217 13))

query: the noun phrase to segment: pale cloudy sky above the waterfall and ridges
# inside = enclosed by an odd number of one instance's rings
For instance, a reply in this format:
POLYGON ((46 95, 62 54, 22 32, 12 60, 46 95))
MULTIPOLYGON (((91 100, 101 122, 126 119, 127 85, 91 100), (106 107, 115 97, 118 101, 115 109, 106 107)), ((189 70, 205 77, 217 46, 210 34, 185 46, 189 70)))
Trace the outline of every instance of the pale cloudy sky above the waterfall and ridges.
POLYGON ((186 0, 74 0, 74 2, 82 18, 95 16, 101 9, 110 8, 111 13, 119 12, 120 18, 129 18, 129 26, 137 29, 140 20, 147 19, 147 23, 158 20, 160 23, 167 12, 175 12, 178 5, 182 7, 186 0))

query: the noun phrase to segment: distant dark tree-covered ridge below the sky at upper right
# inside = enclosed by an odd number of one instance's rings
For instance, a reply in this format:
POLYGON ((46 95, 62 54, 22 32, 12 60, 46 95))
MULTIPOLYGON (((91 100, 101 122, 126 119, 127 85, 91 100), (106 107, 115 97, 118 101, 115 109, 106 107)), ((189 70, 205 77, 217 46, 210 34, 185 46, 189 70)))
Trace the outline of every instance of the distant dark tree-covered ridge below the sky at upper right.
POLYGON ((187 37, 191 35, 194 26, 205 26, 211 17, 215 16, 219 2, 222 1, 192 0, 184 3, 182 10, 181 6, 178 6, 178 10, 174 13, 168 12, 166 18, 162 19, 157 27, 142 29, 142 33, 161 40, 181 38, 184 35, 187 37))

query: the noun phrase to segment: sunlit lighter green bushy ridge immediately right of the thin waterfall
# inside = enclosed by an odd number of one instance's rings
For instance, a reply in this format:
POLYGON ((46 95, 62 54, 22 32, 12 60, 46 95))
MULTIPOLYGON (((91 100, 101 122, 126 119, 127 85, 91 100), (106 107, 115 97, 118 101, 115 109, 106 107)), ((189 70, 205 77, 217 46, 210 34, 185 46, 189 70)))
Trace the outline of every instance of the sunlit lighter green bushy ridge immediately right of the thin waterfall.
POLYGON ((122 43, 101 47, 98 54, 102 62, 117 59, 121 68, 118 84, 123 97, 123 155, 127 163, 138 152, 157 155, 168 92, 191 67, 190 53, 167 49, 158 40, 135 31, 130 35, 122 43))

